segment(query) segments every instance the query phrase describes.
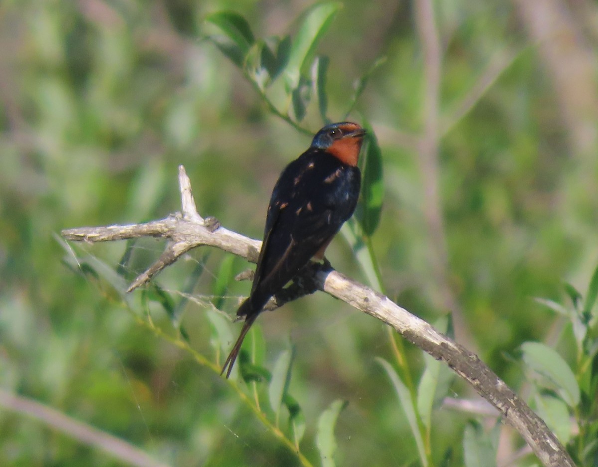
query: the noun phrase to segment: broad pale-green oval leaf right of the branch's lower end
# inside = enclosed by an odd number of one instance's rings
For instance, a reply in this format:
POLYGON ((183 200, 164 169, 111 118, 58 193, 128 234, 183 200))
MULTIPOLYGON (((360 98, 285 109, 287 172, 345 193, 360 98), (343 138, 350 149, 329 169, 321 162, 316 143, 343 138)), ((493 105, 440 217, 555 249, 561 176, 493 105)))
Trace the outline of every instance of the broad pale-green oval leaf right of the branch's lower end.
POLYGON ((579 386, 575 376, 554 349, 541 342, 524 342, 521 350, 526 365, 550 380, 569 407, 579 404, 579 386))

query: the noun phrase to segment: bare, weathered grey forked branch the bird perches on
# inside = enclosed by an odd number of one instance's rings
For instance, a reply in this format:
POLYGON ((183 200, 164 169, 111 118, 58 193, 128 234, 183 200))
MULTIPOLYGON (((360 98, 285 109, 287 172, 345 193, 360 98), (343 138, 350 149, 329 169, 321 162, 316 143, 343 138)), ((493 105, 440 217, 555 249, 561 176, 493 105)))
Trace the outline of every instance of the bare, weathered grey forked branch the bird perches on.
MULTIPOLYGON (((187 186, 189 183, 187 174, 182 167, 179 170, 179 179, 181 180, 181 191, 188 191, 190 194, 191 188, 190 185, 187 186)), ((191 210, 193 214, 193 209, 190 208, 188 202, 185 209, 191 210)), ((173 261, 185 251, 199 245, 220 248, 237 256, 245 257, 252 262, 257 260, 261 245, 259 241, 229 231, 224 227, 210 231, 205 225, 206 219, 202 219, 199 214, 197 218, 195 216, 187 217, 189 219, 181 215, 169 216, 166 219, 139 225, 66 229, 62 231, 62 235, 69 240, 88 242, 113 241, 115 239, 139 238, 140 236, 167 238, 174 243, 172 247, 168 247, 172 248, 174 252, 173 261), (189 247, 189 245, 191 246, 189 247)), ((166 267, 166 261, 161 257, 154 266, 142 274, 144 280, 139 281, 139 284, 136 280, 130 289, 146 282, 151 275, 157 274, 164 267, 166 267)), ((498 408, 507 422, 520 432, 545 466, 573 467, 573 461, 569 454, 547 428, 544 421, 533 413, 523 400, 518 398, 476 355, 439 333, 428 322, 396 305, 388 297, 352 281, 337 271, 330 271, 328 268, 318 265, 311 265, 302 271, 298 280, 295 281, 295 286, 291 285, 287 291, 279 295, 281 300, 292 299, 293 294, 311 293, 316 289, 323 290, 391 325, 405 339, 428 352, 435 359, 444 361, 469 382, 484 399, 498 408), (288 294, 288 296, 284 297, 284 294, 288 294)))

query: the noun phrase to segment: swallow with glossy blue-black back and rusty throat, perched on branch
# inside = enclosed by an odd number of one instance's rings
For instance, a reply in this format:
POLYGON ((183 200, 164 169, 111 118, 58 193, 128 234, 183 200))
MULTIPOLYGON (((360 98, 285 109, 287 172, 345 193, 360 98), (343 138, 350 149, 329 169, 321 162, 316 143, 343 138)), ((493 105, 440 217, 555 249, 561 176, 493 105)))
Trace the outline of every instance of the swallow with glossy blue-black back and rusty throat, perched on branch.
POLYGON ((266 302, 312 258, 324 259, 326 247, 355 211, 364 136, 365 130, 355 123, 327 125, 280 174, 270 197, 251 293, 237 311, 245 323, 222 367, 227 378, 245 334, 266 302))

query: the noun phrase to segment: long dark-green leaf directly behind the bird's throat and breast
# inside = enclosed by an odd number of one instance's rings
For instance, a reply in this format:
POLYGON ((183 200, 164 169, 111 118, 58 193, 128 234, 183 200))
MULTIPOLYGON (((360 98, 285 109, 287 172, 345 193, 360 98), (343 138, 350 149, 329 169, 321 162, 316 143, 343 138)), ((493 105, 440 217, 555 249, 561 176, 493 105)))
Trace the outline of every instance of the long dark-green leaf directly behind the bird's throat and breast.
POLYGON ((382 179, 382 151, 371 127, 367 128, 367 151, 361 187, 362 217, 361 223, 366 236, 372 236, 380 223, 384 182, 382 179))

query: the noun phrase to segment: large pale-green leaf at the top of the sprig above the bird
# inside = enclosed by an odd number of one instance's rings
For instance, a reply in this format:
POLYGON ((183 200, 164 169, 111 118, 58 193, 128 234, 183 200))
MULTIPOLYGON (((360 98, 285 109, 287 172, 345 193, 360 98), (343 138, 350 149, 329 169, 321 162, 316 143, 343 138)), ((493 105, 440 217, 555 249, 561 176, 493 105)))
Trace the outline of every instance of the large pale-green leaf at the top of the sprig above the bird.
POLYGON ((315 5, 307 11, 297 36, 292 41, 289 60, 284 70, 288 90, 297 88, 301 71, 309 62, 318 42, 341 7, 340 3, 324 3, 315 5))

